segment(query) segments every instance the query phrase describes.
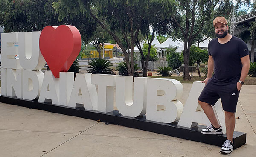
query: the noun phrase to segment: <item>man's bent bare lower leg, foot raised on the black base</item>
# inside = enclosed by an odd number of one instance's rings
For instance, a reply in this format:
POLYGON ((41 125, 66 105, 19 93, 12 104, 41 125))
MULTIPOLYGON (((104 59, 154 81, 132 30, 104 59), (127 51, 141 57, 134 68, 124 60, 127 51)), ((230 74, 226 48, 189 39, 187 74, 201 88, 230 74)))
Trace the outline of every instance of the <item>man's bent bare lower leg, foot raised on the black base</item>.
MULTIPOLYGON (((215 128, 219 128, 220 125, 218 123, 218 120, 214 114, 214 111, 212 109, 212 106, 208 103, 205 102, 201 102, 200 100, 198 100, 199 105, 202 107, 202 109, 204 110, 204 113, 206 114, 206 116, 208 117, 208 119, 210 120, 210 122, 212 123, 212 125, 215 128)), ((227 119, 226 119, 227 120, 227 119)), ((227 123, 226 123, 227 124, 227 123)))

